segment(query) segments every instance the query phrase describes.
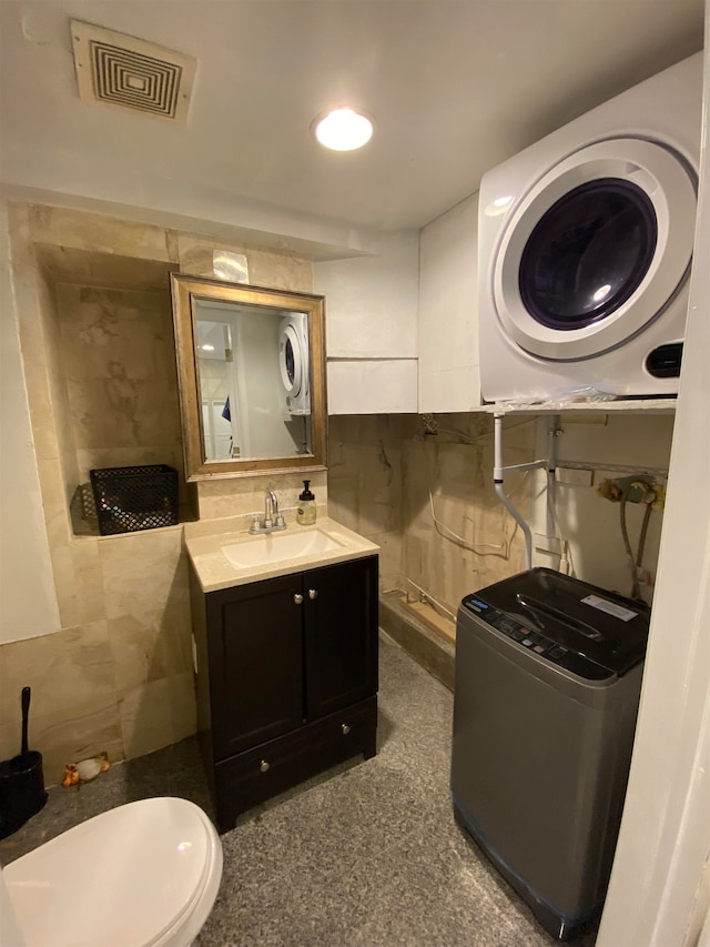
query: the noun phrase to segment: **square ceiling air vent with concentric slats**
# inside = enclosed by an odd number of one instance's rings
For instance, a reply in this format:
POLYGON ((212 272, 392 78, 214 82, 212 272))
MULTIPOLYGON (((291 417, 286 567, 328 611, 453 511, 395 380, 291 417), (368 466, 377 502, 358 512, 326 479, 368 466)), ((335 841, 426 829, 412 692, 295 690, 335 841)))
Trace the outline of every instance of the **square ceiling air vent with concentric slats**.
POLYGON ((185 124, 196 60, 172 49, 71 21, 79 97, 185 124))

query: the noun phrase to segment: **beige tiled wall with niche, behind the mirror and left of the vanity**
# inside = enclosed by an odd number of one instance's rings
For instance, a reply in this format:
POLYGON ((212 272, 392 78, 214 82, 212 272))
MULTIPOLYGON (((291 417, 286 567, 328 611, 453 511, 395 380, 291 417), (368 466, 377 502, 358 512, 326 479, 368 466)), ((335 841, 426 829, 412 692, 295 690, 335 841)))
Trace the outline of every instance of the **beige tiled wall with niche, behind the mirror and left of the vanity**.
MULTIPOLYGON (((0 648, 0 758, 19 750, 20 691, 29 685, 30 739, 52 785, 68 762, 103 750, 113 760, 140 756, 195 729, 182 527, 75 536, 69 501, 93 466, 181 467, 170 296, 155 279, 166 279, 166 264, 211 274, 215 244, 24 204, 11 208, 10 231, 61 628, 0 648)), ((246 253, 252 282, 311 291, 307 260, 220 248, 246 253)), ((268 480, 295 505, 300 477, 268 480)), ((326 475, 313 480, 325 512, 326 475)), ((201 515, 260 510, 263 492, 263 477, 205 484, 201 515)))

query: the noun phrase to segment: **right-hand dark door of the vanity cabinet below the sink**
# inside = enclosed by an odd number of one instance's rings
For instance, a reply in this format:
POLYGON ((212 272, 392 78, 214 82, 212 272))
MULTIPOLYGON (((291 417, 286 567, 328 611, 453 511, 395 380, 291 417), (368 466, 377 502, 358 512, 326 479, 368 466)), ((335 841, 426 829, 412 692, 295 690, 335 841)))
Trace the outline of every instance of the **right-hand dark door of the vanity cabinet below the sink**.
POLYGON ((308 721, 377 692, 377 556, 303 574, 308 721))

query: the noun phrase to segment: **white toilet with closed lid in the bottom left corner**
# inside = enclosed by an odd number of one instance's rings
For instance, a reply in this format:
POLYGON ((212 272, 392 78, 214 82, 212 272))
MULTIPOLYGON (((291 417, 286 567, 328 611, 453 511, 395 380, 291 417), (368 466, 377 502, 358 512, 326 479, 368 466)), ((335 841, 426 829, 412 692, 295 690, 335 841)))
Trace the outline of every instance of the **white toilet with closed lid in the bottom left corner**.
POLYGON ((3 921, 2 947, 187 947, 221 877, 222 844, 201 808, 128 803, 2 869, 3 907, 19 931, 3 921))

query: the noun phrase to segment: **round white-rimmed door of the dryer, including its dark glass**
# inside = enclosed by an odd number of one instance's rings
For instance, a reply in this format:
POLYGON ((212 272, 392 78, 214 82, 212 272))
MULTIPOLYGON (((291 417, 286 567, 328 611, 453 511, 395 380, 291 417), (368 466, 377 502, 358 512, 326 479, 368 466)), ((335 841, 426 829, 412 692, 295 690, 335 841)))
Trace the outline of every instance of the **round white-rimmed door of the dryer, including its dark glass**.
POLYGON ((493 275, 505 332, 556 361, 623 344, 687 279, 696 204, 692 172, 660 144, 615 139, 565 159, 503 233, 493 275))

